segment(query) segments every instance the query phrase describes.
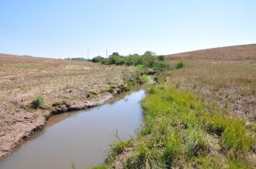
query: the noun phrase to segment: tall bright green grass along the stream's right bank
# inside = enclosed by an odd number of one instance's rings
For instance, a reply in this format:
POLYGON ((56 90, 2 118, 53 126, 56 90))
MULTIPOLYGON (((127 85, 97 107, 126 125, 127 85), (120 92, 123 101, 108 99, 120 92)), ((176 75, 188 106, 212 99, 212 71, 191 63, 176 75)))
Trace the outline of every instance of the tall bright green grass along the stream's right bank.
POLYGON ((208 113, 194 93, 175 85, 150 86, 142 106, 144 124, 138 138, 112 144, 109 164, 122 154, 124 168, 244 166, 238 158, 223 164, 217 157, 209 157, 215 150, 213 136, 224 154, 251 149, 254 137, 243 120, 228 117, 224 111, 208 113))

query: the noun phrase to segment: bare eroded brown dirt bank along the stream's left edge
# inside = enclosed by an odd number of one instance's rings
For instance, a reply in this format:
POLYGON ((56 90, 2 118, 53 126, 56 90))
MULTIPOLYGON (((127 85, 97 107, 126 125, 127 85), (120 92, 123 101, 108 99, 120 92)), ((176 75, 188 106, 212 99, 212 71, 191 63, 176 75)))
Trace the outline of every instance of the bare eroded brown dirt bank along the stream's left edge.
POLYGON ((43 113, 20 113, 17 115, 5 114, 2 116, 0 132, 0 159, 12 154, 23 141, 36 132, 43 129, 47 119, 56 113, 64 113, 72 110, 83 110, 93 106, 99 106, 108 102, 118 93, 124 90, 120 88, 114 93, 102 93, 85 101, 74 100, 70 103, 61 101, 54 103, 54 110, 43 110, 43 113))

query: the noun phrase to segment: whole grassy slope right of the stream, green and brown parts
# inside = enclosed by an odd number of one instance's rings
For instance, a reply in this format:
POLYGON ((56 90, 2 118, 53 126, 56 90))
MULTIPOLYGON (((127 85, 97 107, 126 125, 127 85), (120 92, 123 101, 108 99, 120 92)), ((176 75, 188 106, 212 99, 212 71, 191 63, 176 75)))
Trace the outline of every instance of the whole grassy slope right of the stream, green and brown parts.
POLYGON ((256 45, 168 56, 143 101, 138 139, 117 141, 103 167, 256 167, 256 45))

